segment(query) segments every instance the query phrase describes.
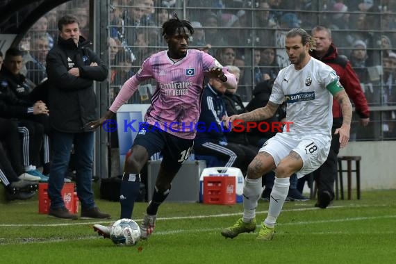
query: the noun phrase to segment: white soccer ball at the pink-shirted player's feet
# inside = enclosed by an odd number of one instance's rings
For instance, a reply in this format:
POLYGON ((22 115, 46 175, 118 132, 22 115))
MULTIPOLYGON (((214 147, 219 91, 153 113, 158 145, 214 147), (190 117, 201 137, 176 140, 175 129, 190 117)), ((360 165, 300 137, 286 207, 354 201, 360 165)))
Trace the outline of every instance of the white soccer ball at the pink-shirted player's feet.
POLYGON ((140 227, 135 221, 122 218, 110 226, 110 239, 115 245, 133 246, 140 240, 140 227))

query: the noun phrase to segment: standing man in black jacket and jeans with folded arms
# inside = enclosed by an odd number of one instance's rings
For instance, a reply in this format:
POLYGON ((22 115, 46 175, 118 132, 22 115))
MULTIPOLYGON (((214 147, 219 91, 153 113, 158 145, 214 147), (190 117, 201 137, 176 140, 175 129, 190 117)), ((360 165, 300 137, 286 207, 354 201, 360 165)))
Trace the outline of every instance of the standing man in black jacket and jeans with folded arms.
POLYGON ((58 45, 47 55, 49 119, 53 128, 49 215, 63 219, 78 218, 69 213, 60 195, 74 144, 81 218, 110 218, 107 213, 101 213, 94 203, 91 186, 94 132, 87 125, 97 118, 93 81, 104 81, 108 69, 99 56, 86 47, 89 42, 80 35, 76 17, 61 17, 58 29, 58 45))

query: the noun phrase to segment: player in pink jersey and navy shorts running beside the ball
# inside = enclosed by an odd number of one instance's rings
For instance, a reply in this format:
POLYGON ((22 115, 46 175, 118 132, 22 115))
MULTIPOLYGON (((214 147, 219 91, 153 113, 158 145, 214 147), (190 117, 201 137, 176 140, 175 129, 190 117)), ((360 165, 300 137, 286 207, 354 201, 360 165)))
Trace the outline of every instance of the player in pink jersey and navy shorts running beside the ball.
MULTIPOLYGON (((131 218, 133 204, 139 194, 140 170, 150 156, 162 152, 154 194, 140 224, 142 239, 154 231, 158 206, 169 195, 172 179, 184 160, 189 158, 196 133, 195 124, 201 112, 205 76, 220 79, 228 89, 236 88, 236 77, 223 69, 215 58, 203 51, 188 49, 193 33, 190 22, 179 20, 176 15, 165 22, 163 37, 168 45, 167 51, 147 58, 138 73, 124 83, 106 115, 90 123, 94 128, 101 126, 131 98, 139 83, 147 79, 156 80, 151 106, 145 115, 147 124, 140 126, 133 146, 126 154, 120 190, 121 218, 131 218)), ((99 224, 94 225, 94 231, 104 237, 109 234, 108 227, 99 224)))

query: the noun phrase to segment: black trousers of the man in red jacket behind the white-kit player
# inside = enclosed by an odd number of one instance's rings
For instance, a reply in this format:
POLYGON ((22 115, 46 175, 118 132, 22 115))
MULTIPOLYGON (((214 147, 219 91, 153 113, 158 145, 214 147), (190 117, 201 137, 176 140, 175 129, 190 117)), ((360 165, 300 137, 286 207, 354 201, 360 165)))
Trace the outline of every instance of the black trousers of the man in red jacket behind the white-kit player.
POLYGON ((317 185, 317 193, 320 194, 320 192, 327 190, 330 192, 332 200, 334 199, 334 181, 336 181, 336 176, 338 174, 337 156, 340 151, 340 137, 334 135, 334 132, 336 129, 340 128, 341 124, 343 124, 342 118, 333 118, 333 127, 331 129, 333 138, 331 139, 329 156, 327 156, 327 160, 319 169, 312 172, 313 179, 317 185))

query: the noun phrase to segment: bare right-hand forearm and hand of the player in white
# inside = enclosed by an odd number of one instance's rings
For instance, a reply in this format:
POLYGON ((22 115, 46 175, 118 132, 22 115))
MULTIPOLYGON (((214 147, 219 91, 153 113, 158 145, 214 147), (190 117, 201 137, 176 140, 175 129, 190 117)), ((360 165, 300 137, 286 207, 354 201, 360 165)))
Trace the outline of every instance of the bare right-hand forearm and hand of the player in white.
POLYGON ((351 129, 352 121, 352 104, 345 90, 341 90, 334 95, 343 111, 343 124, 339 129, 336 129, 336 134, 340 135, 340 147, 343 148, 349 141, 349 130, 351 129))

